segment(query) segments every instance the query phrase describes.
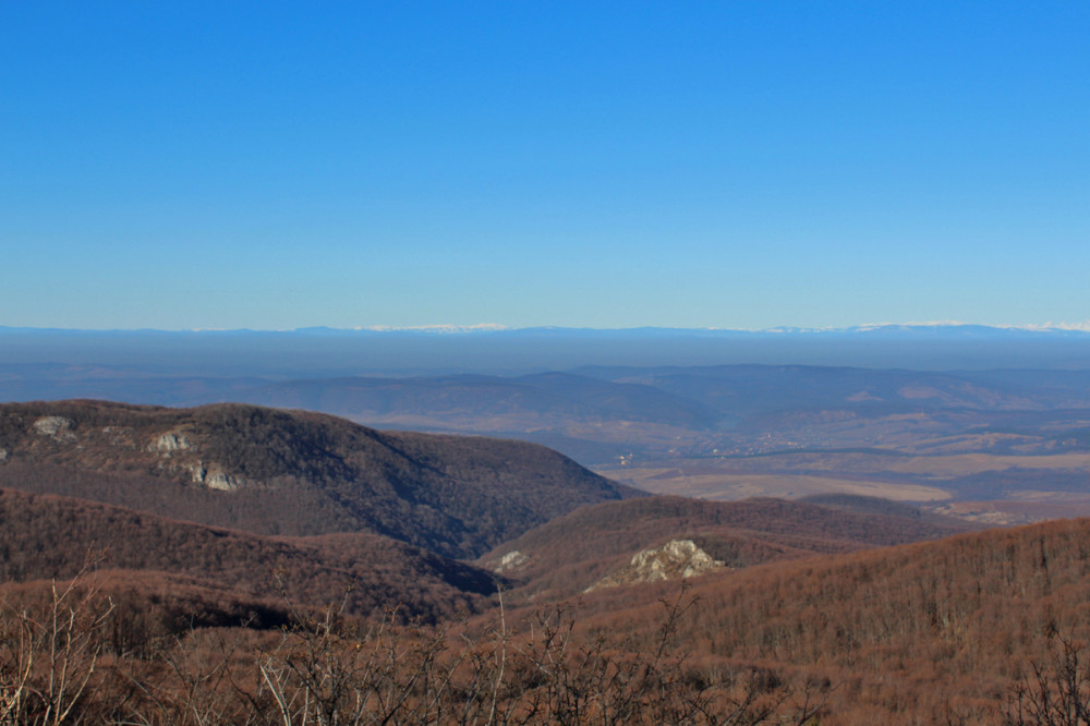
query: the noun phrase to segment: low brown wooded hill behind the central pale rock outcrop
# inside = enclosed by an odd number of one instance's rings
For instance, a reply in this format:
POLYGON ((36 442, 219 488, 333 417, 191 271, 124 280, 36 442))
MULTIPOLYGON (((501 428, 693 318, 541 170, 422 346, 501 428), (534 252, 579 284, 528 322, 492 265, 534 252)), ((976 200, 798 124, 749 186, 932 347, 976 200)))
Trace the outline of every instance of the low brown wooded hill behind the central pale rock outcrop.
MULTIPOLYGON (((893 506, 893 503, 888 503, 893 506)), ((857 506, 862 506, 856 501, 857 506)), ((879 508, 873 501, 871 507, 879 508)), ((965 532, 956 520, 853 512, 784 499, 705 501, 656 496, 583 507, 506 542, 477 564, 522 586, 512 602, 582 592, 637 552, 691 540, 727 567, 743 568, 814 554, 846 553, 965 532)))

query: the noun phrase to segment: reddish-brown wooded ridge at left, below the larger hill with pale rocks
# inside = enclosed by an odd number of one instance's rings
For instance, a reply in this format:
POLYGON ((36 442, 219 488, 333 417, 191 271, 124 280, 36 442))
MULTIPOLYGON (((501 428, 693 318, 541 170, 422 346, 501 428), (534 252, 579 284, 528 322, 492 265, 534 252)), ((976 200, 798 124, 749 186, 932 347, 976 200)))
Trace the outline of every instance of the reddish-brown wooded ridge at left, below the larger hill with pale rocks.
MULTIPOLYGON (((72 578, 88 554, 97 568, 116 570, 112 581, 128 582, 133 597, 147 590, 149 573, 159 580, 184 576, 182 580, 210 588, 194 613, 222 609, 221 601, 261 603, 267 608, 288 595, 299 603, 343 598, 346 613, 354 615, 383 615, 396 607, 401 617, 435 622, 484 609, 496 588, 487 572, 374 534, 261 536, 0 489, 3 581, 72 578), (287 583, 284 591, 278 580, 287 583)), ((185 598, 174 588, 160 594, 178 601, 168 608, 173 615, 185 615, 185 598)))

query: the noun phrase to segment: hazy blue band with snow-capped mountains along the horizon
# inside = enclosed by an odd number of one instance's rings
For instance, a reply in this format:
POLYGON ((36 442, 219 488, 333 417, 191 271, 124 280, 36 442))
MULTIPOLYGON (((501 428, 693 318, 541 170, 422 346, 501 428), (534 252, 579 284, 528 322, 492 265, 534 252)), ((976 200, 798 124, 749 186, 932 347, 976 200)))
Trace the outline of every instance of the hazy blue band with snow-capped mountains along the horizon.
POLYGON ((1086 326, 962 324, 778 328, 63 330, 0 327, 0 373, 20 363, 160 375, 525 374, 582 365, 724 363, 954 370, 1090 367, 1086 326), (1026 343, 1032 342, 1032 346, 1026 343))

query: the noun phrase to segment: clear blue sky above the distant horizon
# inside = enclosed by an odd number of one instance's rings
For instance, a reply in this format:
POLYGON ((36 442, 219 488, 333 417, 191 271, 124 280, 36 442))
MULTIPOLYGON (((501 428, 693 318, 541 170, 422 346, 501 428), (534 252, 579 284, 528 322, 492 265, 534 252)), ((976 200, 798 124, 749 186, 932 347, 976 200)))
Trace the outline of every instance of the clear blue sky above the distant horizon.
POLYGON ((1090 319, 1090 2, 4 2, 0 325, 1090 319))

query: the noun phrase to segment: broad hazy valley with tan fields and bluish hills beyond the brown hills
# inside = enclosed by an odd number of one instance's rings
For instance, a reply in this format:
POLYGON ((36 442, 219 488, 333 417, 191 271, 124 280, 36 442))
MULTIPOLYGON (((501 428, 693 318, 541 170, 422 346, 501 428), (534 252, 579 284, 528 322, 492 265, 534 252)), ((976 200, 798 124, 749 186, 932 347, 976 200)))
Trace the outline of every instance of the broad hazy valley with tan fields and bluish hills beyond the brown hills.
MULTIPOLYGON (((25 375, 12 368, 0 394, 17 396, 31 384, 25 375)), ((380 429, 521 439, 655 493, 726 500, 844 492, 992 523, 1090 515, 1085 371, 582 366, 282 380, 96 367, 36 375, 34 390, 50 398, 231 400, 380 429)))

